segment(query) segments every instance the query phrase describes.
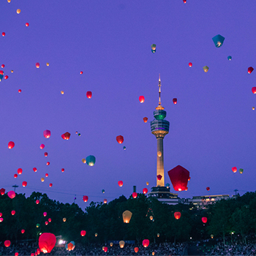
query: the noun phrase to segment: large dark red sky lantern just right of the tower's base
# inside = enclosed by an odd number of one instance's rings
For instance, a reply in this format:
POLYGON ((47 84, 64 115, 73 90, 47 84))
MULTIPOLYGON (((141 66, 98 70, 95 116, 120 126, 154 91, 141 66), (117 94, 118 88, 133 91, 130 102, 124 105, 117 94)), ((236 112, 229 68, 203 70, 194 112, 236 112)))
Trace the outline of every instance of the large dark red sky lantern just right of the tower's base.
POLYGON ((172 170, 168 171, 168 176, 170 177, 174 190, 184 191, 187 189, 187 182, 189 179, 189 171, 187 169, 181 165, 177 165, 172 170))

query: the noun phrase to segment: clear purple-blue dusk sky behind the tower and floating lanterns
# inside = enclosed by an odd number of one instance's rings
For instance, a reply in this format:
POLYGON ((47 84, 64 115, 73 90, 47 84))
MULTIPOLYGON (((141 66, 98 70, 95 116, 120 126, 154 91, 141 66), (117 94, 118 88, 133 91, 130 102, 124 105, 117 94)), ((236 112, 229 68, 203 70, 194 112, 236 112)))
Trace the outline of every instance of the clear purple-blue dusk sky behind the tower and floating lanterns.
POLYGON ((9 191, 17 184, 18 193, 47 192, 63 203, 76 194, 82 208, 91 200, 129 197, 134 185, 137 192, 150 191, 157 176, 150 121, 160 73, 170 121, 165 184, 167 171, 182 165, 191 181, 179 197, 255 191, 256 71, 247 73, 256 68, 255 1, 2 0, 0 9, 0 32, 6 33, 0 36, 0 65, 9 75, 0 83, 0 187, 9 191), (211 39, 217 34, 225 37, 220 48, 211 39), (69 140, 61 138, 64 132, 71 133, 69 140), (121 145, 118 135, 124 136, 121 145), (90 154, 96 157, 93 167, 81 161, 90 154), (233 173, 233 166, 244 173, 233 173), (23 174, 15 179, 18 167, 23 174))

